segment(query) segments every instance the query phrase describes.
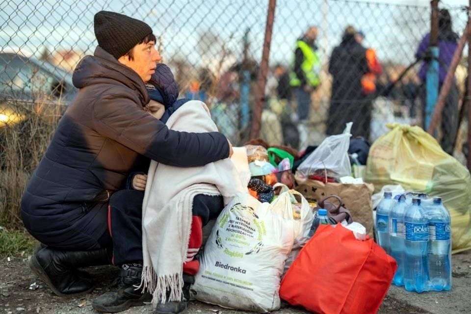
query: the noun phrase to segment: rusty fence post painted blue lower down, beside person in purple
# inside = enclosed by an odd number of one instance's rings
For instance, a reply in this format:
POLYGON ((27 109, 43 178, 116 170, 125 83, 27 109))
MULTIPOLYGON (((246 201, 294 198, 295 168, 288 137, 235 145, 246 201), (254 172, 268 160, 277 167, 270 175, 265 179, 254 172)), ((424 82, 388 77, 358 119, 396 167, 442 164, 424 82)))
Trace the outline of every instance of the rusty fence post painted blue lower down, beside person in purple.
POLYGON ((425 130, 430 126, 435 103, 438 98, 438 0, 430 1, 431 21, 430 21, 430 44, 429 49, 432 52, 433 59, 429 61, 426 77, 427 103, 425 105, 425 130))

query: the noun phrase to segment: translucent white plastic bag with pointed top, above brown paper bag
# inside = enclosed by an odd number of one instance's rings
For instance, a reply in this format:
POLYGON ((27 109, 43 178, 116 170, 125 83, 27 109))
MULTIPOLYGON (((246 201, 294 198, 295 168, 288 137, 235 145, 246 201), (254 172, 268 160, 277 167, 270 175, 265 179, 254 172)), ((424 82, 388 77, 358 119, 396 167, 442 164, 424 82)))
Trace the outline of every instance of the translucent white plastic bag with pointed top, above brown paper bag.
POLYGON ((342 134, 331 135, 324 139, 314 152, 309 155, 298 167, 298 171, 304 177, 309 177, 314 172, 324 169, 331 172, 333 176, 338 178, 351 176, 352 168, 350 166, 350 158, 348 158, 348 147, 350 146, 350 130, 352 122, 347 126, 342 134))

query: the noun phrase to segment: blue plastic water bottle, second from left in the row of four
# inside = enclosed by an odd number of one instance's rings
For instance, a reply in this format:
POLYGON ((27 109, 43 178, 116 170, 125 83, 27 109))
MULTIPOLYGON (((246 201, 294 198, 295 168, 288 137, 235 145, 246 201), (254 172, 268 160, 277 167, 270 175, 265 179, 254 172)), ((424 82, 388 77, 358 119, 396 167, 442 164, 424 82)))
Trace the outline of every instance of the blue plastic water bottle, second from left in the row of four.
POLYGON ((392 283, 396 286, 404 286, 404 214, 407 208, 406 196, 400 195, 397 203, 389 212, 391 256, 397 263, 397 270, 394 273, 394 278, 392 278, 392 283))

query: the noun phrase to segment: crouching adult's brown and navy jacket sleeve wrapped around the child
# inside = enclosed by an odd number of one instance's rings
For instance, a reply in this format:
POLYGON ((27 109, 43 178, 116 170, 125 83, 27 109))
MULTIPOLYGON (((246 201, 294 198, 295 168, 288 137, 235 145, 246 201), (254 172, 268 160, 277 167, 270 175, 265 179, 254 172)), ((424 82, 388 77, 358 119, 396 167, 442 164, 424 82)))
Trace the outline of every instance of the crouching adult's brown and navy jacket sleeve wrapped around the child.
POLYGON ((219 132, 169 130, 129 97, 108 94, 94 106, 96 131, 158 162, 202 166, 229 157, 229 143, 219 132))

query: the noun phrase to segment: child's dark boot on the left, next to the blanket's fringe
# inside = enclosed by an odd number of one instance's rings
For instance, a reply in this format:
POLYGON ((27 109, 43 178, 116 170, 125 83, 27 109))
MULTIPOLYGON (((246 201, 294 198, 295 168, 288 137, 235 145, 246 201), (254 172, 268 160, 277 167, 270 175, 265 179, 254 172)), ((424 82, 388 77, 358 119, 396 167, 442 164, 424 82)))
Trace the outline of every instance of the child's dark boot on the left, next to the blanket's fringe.
POLYGON ((142 266, 128 266, 120 269, 120 282, 116 291, 106 292, 92 301, 92 307, 98 312, 117 313, 126 311, 131 306, 141 306, 152 301, 149 292, 142 293, 142 266))

